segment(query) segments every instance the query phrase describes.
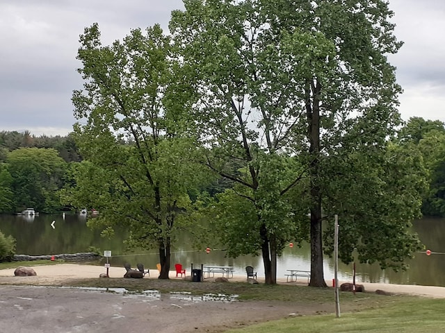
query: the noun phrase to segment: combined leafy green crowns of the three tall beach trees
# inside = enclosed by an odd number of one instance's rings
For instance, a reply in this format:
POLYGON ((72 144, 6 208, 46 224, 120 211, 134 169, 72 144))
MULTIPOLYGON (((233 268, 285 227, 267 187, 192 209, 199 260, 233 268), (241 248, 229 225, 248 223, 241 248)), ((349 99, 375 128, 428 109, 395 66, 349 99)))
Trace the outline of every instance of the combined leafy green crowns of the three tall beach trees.
POLYGON ((261 251, 268 283, 285 244, 310 234, 312 285, 325 284, 322 207, 344 221, 346 262, 355 249, 382 266, 409 257, 426 171, 416 149, 388 144, 401 88, 387 54, 401 43, 387 3, 184 6, 171 36, 154 26, 102 46, 97 24, 81 35, 86 83, 72 101, 88 162, 72 166, 65 200, 99 209, 106 232, 128 225, 128 243, 158 246, 161 262, 178 226, 206 212, 229 255, 261 251), (214 203, 197 194, 208 171, 233 185, 214 203))

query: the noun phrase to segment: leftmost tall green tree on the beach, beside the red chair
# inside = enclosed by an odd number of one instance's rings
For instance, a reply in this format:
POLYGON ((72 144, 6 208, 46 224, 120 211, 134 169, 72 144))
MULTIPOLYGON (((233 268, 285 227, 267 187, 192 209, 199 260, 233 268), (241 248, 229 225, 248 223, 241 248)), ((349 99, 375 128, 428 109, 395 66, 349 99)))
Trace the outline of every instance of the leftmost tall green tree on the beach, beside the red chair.
POLYGON ((108 230, 126 225, 130 245, 158 248, 159 278, 167 279, 175 232, 189 222, 188 191, 209 179, 192 162, 199 151, 182 117, 193 92, 158 25, 102 46, 93 24, 80 43, 85 89, 72 101, 87 162, 76 169, 76 205, 99 210, 95 223, 108 230))

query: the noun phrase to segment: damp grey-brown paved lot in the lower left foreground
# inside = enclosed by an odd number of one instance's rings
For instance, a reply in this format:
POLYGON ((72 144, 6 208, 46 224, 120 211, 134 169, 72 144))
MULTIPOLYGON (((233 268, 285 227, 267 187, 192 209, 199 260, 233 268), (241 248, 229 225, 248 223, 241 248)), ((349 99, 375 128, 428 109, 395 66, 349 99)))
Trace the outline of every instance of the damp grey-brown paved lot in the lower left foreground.
POLYGON ((291 312, 288 305, 159 293, 2 285, 0 294, 0 332, 218 332, 291 312))

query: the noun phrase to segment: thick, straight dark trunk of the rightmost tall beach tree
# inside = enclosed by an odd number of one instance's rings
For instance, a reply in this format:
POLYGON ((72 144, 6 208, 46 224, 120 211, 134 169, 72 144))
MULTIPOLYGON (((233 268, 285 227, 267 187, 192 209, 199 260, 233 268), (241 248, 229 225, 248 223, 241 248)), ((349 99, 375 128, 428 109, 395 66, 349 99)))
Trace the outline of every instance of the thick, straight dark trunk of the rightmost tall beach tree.
POLYGON ((307 80, 306 112, 309 137, 311 178, 311 287, 327 287, 323 273, 323 239, 321 230, 321 189, 318 180, 320 169, 320 93, 318 80, 307 80), (312 99, 311 99, 312 96, 312 99), (312 103, 311 103, 312 101, 312 103))

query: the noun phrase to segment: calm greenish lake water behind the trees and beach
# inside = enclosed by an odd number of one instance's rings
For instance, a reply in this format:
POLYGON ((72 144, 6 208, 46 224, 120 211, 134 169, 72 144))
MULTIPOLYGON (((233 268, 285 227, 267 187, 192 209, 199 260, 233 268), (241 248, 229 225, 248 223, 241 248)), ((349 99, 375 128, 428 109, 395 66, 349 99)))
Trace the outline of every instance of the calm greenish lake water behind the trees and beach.
MULTIPOLYGON (((136 250, 129 253, 125 249, 123 239, 125 232, 119 232, 113 239, 100 236, 98 230, 90 230, 86 226, 88 217, 85 215, 62 214, 41 215, 29 218, 26 216, 0 215, 0 230, 3 234, 11 235, 17 240, 17 254, 26 255, 56 255, 60 253, 88 252, 90 247, 98 248, 103 254, 104 250, 111 250, 111 266, 122 266, 124 262, 141 262, 145 268, 156 268, 159 256, 156 249, 136 250), (51 222, 54 222, 54 228, 51 222)), ((410 268, 405 272, 392 270, 382 271, 378 265, 356 264, 357 282, 385 282, 396 284, 423 284, 445 287, 445 219, 421 219, 415 221, 414 232, 426 248, 433 254, 416 253, 416 257, 407 264, 410 268)), ((341 234, 339 235, 341 237, 341 234)), ((211 244, 209 247, 212 248, 211 244)), ((102 259, 98 264, 104 264, 102 259)), ((259 278, 264 277, 264 268, 261 257, 242 256, 236 259, 226 258, 225 251, 211 250, 209 254, 205 249, 194 250, 188 245, 188 239, 179 239, 177 246, 172 249, 172 262, 181 263, 187 273, 191 264, 195 268, 201 264, 220 266, 234 266, 235 274, 245 274, 245 266, 254 266, 259 278)), ((277 278, 284 278, 286 269, 310 270, 309 244, 302 244, 301 248, 293 246, 286 248, 282 257, 278 259, 277 278)), ((326 280, 334 278, 334 260, 325 257, 324 271, 326 280)), ((353 264, 339 264, 339 280, 353 278, 353 264)))

